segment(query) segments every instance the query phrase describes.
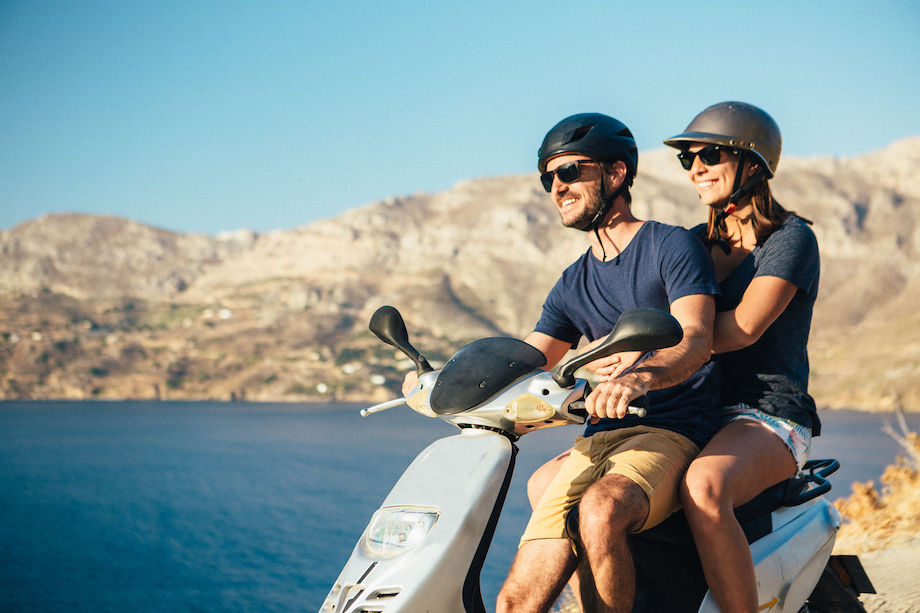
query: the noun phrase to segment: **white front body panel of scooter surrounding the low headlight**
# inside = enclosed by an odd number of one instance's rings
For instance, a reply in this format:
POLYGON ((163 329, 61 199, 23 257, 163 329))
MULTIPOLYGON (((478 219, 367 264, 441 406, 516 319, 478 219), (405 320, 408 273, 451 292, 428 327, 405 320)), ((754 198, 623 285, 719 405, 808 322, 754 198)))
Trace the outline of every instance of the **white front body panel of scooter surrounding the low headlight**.
POLYGON ((515 451, 505 436, 473 429, 429 445, 381 505, 381 509, 435 510, 439 515, 424 542, 382 558, 365 545, 369 526, 336 579, 322 613, 478 610, 482 564, 478 556, 488 549, 487 544, 480 545, 483 538, 491 540, 497 520, 493 515, 504 501, 515 451), (445 556, 445 551, 450 555, 445 556), (471 604, 476 599, 478 607, 471 604))

